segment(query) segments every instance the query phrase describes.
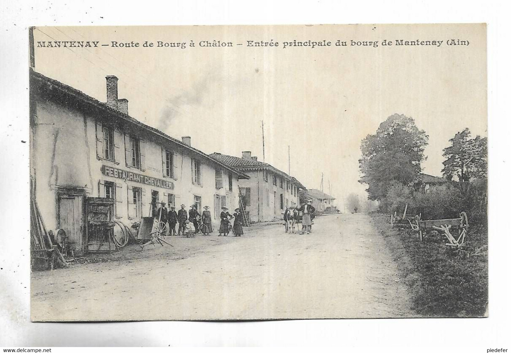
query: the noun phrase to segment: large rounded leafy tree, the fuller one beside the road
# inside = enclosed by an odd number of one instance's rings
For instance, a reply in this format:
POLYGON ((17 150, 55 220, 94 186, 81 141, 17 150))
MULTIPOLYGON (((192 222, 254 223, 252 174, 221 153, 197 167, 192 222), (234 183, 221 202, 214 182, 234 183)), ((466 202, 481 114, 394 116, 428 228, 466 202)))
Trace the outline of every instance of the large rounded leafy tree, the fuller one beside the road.
POLYGON ((428 138, 413 118, 393 114, 380 124, 375 135, 362 140, 359 182, 369 186, 369 199, 385 197, 392 181, 413 185, 419 180, 428 138))

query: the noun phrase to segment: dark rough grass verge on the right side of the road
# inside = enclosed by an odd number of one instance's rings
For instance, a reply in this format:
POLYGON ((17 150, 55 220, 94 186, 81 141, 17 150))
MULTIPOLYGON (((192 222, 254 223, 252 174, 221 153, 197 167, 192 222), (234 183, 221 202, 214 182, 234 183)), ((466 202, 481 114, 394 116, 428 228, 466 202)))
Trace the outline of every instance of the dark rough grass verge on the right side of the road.
MULTIPOLYGON (((389 216, 372 214, 402 279, 409 287, 412 310, 424 317, 481 317, 488 302, 488 257, 486 225, 470 224, 469 259, 445 254, 446 238, 428 234, 417 240, 409 226, 391 228, 389 216)), ((470 221, 470 220, 469 220, 470 221)))

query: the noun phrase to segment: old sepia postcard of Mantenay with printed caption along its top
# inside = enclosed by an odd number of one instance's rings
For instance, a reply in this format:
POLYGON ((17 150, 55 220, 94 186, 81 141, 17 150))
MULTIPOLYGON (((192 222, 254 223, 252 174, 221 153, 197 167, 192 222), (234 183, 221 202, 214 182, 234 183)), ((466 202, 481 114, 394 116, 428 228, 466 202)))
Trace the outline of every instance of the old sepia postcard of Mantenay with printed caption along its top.
POLYGON ((487 316, 485 24, 29 35, 32 321, 487 316))

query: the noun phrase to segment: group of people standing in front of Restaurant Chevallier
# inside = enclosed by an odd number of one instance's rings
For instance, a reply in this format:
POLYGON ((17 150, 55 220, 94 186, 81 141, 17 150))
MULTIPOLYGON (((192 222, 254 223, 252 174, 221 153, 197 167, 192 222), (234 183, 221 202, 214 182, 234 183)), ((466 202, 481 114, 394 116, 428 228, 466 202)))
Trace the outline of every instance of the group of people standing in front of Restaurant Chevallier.
MULTIPOLYGON (((220 232, 218 236, 227 236, 229 234, 231 231, 230 220, 233 218, 234 224, 232 230, 234 236, 240 237, 243 235, 243 216, 241 214, 241 209, 237 208, 234 211, 235 212, 231 215, 227 207, 222 207, 222 212, 220 213, 220 232)), ((169 211, 166 204, 161 203, 155 216, 160 222, 168 224, 168 232, 165 235, 193 237, 199 234, 199 232, 201 232, 203 236, 209 236, 213 233, 209 206, 204 206, 204 210, 202 214, 200 214, 196 205, 190 206, 190 211, 187 211, 185 206, 181 205, 181 209, 176 212, 174 206, 171 206, 169 211), (179 228, 176 233, 177 223, 179 223, 179 228)))

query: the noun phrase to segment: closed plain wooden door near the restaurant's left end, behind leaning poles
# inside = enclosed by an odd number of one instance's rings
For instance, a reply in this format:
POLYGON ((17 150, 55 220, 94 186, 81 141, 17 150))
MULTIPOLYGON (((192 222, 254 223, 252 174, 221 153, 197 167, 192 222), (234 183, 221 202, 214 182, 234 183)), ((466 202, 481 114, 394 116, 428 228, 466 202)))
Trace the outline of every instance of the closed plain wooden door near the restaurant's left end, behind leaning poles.
POLYGON ((69 249, 83 251, 82 196, 59 196, 59 228, 67 235, 69 249))

